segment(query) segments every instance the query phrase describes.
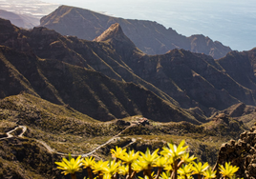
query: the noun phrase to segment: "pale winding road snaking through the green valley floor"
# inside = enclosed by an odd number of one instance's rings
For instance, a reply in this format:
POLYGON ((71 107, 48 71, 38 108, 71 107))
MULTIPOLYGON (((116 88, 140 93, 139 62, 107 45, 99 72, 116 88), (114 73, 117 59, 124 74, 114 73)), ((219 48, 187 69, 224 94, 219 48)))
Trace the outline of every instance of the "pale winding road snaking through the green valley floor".
MULTIPOLYGON (((88 152, 88 153, 83 153, 83 154, 71 154, 72 156, 78 156, 78 155, 81 155, 82 157, 87 157, 87 156, 90 156, 90 155, 93 155, 97 149, 101 149, 102 147, 106 146, 107 144, 117 140, 119 138, 119 135, 122 134, 126 129, 129 129, 129 128, 132 128, 132 127, 135 127, 137 126, 138 123, 133 123, 131 124, 130 126, 126 127, 125 129, 121 130, 119 133, 117 133, 117 135, 115 135, 114 137, 112 137, 110 140, 108 140, 107 142, 105 142, 104 144, 96 147, 96 149, 93 149, 92 151, 88 152)), ((24 133, 27 131, 27 127, 26 126, 18 126, 16 127, 15 129, 11 129, 10 131, 7 132, 7 137, 2 137, 0 138, 0 140, 4 140, 4 139, 9 139, 9 138, 12 138, 14 137, 11 133, 14 132, 16 129, 22 129, 22 132, 17 136, 17 137, 20 137, 20 138, 24 138, 24 133)), ((41 144, 42 146, 44 146, 50 153, 56 153, 58 155, 68 155, 69 153, 62 153, 62 152, 58 152, 58 151, 55 151, 53 148, 51 148, 48 144, 46 144, 44 141, 41 141, 41 140, 38 140, 38 139, 33 139, 35 140, 37 143, 41 144)), ((124 148, 127 148, 128 146, 134 144, 136 142, 136 139, 135 138, 132 138, 132 142, 129 143, 128 145, 126 145, 124 148)), ((95 155, 96 156, 96 155, 95 155)), ((97 156, 96 156, 97 157, 97 156)))

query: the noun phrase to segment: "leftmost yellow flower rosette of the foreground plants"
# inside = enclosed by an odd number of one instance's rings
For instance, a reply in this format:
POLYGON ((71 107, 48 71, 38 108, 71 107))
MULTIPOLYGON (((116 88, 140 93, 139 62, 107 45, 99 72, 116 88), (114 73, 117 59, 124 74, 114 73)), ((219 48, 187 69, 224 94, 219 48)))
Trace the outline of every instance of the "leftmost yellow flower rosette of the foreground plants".
POLYGON ((57 169, 62 169, 61 173, 66 174, 74 174, 77 171, 81 171, 82 169, 80 168, 82 166, 82 159, 80 159, 81 156, 79 155, 76 159, 71 158, 71 160, 67 160, 66 158, 62 158, 62 162, 55 162, 57 169))

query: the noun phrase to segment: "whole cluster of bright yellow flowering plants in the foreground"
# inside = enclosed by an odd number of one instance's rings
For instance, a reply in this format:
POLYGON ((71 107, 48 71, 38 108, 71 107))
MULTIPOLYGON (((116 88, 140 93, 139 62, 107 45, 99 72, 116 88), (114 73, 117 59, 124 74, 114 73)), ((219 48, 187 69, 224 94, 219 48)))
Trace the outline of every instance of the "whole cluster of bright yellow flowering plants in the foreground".
MULTIPOLYGON (((197 175, 198 179, 216 178, 216 170, 209 167, 208 163, 194 162, 196 157, 190 156, 187 152, 188 146, 184 146, 185 141, 176 146, 167 144, 167 147, 145 152, 135 152, 135 150, 111 149, 112 158, 110 161, 95 161, 93 157, 76 159, 63 158, 62 162, 55 162, 57 169, 62 169, 63 174, 71 174, 75 179, 75 172, 87 169, 89 179, 117 179, 119 175, 125 179, 133 179, 140 171, 144 179, 190 179, 197 175), (157 174, 152 170, 158 171, 157 174)), ((239 169, 230 163, 224 166, 219 165, 221 177, 224 179, 234 178, 235 172, 239 169)), ((85 177, 86 178, 86 177, 85 177)))

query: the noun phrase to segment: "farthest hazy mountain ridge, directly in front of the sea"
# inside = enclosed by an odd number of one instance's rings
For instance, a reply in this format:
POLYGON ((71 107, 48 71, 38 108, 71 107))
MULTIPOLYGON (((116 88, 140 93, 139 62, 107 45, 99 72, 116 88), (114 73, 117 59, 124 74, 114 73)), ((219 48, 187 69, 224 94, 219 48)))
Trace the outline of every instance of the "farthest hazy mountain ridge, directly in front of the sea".
POLYGON ((68 6, 54 10, 43 17, 40 23, 40 26, 63 35, 75 35, 86 40, 95 39, 112 24, 118 23, 139 50, 147 54, 163 54, 168 50, 184 49, 209 54, 218 59, 231 50, 203 35, 182 36, 175 30, 165 29, 157 22, 116 18, 68 6))

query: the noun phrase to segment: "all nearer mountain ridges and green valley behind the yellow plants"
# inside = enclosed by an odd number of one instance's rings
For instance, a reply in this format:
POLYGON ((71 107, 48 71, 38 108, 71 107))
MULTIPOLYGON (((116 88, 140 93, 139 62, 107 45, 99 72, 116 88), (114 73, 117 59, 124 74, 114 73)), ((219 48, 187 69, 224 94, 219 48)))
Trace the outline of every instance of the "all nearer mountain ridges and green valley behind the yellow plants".
POLYGON ((119 24, 88 41, 0 19, 0 176, 61 178, 53 162, 69 152, 107 159, 182 139, 213 166, 256 122, 254 54, 148 55, 119 24))

